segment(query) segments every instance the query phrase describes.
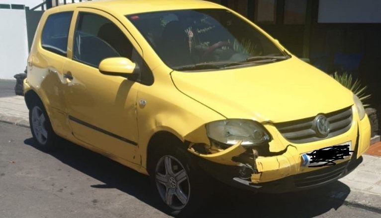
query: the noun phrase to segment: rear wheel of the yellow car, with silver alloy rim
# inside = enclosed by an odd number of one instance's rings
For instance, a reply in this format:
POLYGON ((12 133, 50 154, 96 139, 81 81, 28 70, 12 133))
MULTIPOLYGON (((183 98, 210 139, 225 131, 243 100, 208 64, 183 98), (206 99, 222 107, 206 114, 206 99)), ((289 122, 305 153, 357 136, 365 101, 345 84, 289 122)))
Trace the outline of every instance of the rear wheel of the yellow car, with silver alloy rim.
POLYGON ((57 135, 39 99, 34 99, 29 109, 29 125, 38 149, 44 152, 53 151, 56 147, 57 135))

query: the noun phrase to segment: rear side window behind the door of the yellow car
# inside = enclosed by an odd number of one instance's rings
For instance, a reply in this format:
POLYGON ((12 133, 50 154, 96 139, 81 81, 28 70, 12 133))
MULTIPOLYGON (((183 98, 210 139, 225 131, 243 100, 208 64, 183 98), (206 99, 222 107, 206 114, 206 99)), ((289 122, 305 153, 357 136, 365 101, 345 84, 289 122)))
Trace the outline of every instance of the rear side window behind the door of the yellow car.
POLYGON ((61 12, 49 15, 42 31, 42 48, 66 56, 68 34, 73 12, 61 12))

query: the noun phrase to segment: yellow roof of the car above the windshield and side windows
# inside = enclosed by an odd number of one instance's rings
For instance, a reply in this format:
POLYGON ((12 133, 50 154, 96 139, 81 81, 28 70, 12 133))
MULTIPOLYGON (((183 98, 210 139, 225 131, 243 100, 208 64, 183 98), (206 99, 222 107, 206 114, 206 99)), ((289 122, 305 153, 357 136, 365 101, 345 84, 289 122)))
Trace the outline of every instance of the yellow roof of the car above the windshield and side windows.
POLYGON ((77 7, 108 9, 122 15, 165 10, 224 8, 219 4, 203 0, 91 0, 58 6, 60 10, 74 10, 77 7))

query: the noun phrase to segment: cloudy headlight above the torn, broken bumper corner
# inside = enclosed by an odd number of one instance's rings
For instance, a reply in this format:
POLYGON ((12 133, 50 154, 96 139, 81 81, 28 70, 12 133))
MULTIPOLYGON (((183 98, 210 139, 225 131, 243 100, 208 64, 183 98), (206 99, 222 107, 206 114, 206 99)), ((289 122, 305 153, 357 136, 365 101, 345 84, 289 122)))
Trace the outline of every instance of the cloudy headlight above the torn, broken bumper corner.
POLYGON ((248 119, 226 119, 206 124, 209 139, 226 145, 251 146, 270 141, 270 134, 261 124, 248 119))

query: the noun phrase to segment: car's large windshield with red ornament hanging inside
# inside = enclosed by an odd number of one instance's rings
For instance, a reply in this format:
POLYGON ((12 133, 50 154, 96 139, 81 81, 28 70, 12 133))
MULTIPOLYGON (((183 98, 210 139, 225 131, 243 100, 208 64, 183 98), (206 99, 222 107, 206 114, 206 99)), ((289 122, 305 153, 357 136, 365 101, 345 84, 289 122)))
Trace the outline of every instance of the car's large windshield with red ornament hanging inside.
POLYGON ((175 70, 220 69, 288 58, 259 30, 225 9, 149 12, 127 18, 175 70))

